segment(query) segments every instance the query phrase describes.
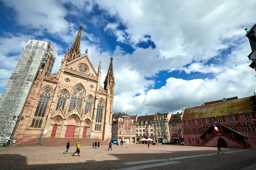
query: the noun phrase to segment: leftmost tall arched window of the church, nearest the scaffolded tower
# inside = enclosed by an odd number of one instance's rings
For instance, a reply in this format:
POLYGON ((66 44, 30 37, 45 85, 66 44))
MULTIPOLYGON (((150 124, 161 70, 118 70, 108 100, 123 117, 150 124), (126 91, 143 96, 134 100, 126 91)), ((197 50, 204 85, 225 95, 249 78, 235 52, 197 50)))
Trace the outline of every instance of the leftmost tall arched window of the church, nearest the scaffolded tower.
POLYGON ((45 110, 47 108, 50 97, 51 90, 49 88, 44 89, 44 91, 41 93, 38 105, 36 107, 36 113, 34 116, 44 117, 45 110))

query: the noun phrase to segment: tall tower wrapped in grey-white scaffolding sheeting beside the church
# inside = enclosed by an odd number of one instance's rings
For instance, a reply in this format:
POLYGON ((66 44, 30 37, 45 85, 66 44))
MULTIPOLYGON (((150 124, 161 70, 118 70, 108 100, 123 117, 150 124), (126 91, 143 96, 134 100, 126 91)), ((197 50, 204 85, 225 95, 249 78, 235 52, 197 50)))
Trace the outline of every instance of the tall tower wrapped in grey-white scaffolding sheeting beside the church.
POLYGON ((38 70, 44 68, 49 54, 47 74, 57 52, 48 42, 29 39, 0 97, 0 134, 11 136, 16 124, 13 116, 21 115, 38 70))

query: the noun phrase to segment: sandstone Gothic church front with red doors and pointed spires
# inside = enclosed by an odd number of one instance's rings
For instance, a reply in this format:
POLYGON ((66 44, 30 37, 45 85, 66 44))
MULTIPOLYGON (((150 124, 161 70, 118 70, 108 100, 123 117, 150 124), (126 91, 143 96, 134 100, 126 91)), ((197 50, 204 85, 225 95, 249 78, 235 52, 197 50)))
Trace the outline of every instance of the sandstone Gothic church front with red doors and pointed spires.
POLYGON ((115 78, 111 57, 104 87, 101 62, 96 70, 80 54, 82 26, 61 61, 60 70, 46 74, 50 57, 38 71, 13 139, 24 137, 111 138, 115 78), (41 134, 41 135, 40 135, 41 134))

